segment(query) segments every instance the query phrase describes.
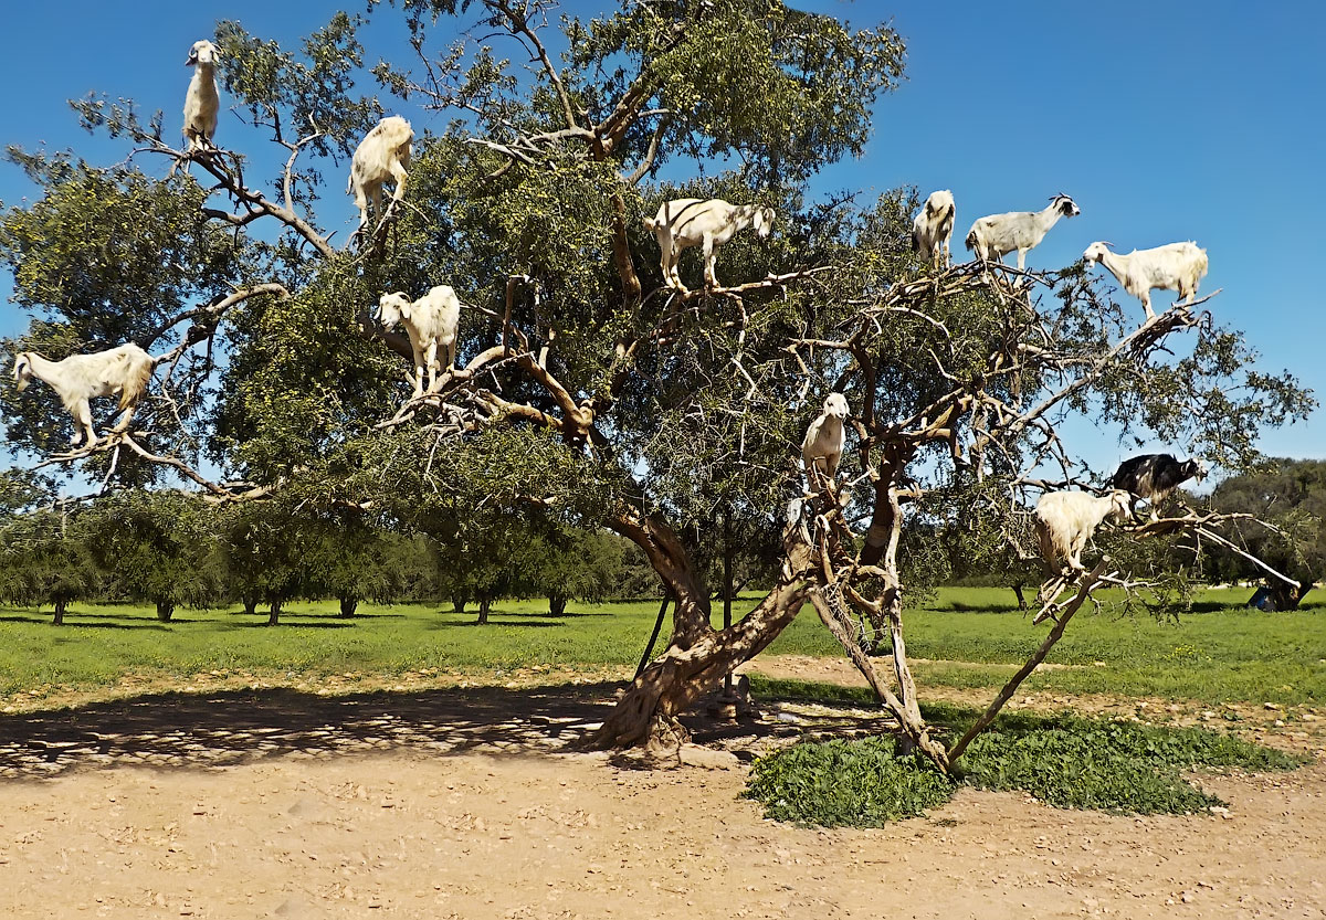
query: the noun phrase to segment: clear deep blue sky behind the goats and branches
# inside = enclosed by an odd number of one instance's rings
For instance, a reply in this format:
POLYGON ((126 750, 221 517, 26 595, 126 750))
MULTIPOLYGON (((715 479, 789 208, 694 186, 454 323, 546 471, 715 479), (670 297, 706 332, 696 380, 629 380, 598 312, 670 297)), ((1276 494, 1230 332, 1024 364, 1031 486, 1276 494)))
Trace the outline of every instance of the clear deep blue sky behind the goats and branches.
MULTIPOLYGON (((1211 257, 1203 290, 1224 289, 1209 304, 1216 317, 1246 330, 1262 369, 1289 369, 1326 396, 1317 276, 1326 215, 1326 4, 798 5, 855 25, 888 16, 908 45, 907 81, 876 106, 865 158, 826 170, 822 192, 951 188, 955 243, 980 215, 1038 208, 1067 192, 1082 216, 1061 221, 1030 253, 1029 265, 1041 268, 1071 262, 1093 240, 1130 251, 1193 239, 1211 257)), ((572 7, 585 13, 607 4, 572 7)), ((114 162, 123 147, 80 131, 65 99, 93 89, 131 97, 147 111, 164 110, 174 133, 186 53, 216 20, 237 19, 294 48, 335 8, 271 0, 13 4, 0 33, 0 143, 73 146, 91 162, 114 162)), ((370 62, 406 60, 395 15, 383 9, 374 20, 363 33, 370 62)), ((444 122, 404 114, 416 127, 444 122)), ((223 111, 227 144, 244 130, 223 111)), ((12 205, 30 194, 17 168, 0 164, 0 200, 12 205)), ((321 208, 324 225, 353 227, 347 199, 329 195, 321 208)), ((0 296, 11 290, 0 272, 0 296)), ((1140 305, 1124 302, 1140 321, 1140 305)), ((23 327, 12 306, 0 310, 0 334, 23 327)), ((1070 447, 1098 467, 1134 452, 1090 426, 1074 427, 1071 437, 1070 447)), ((1326 433, 1314 418, 1269 432, 1262 449, 1326 457, 1326 433)))

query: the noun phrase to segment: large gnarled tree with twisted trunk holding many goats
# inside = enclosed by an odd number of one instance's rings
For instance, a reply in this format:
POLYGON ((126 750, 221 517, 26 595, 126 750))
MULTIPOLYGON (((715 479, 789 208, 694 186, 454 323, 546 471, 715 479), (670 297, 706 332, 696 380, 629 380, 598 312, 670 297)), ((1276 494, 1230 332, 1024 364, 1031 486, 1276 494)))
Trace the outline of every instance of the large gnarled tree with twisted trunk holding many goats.
MULTIPOLYGON (((1288 374, 1249 370, 1242 335, 1204 304, 1138 329, 1081 265, 923 269, 906 247, 911 191, 813 200, 810 178, 862 152, 902 77, 892 29, 777 0, 557 13, 378 5, 404 17, 416 54, 373 68, 378 95, 353 95, 357 17, 337 15, 300 54, 221 23, 223 106, 241 115, 223 121, 223 150, 188 160, 160 115, 91 97, 81 118, 125 139, 127 160, 13 151, 42 195, 0 227, 36 314, 11 351, 135 339, 172 353, 131 433, 147 447, 121 457, 107 441, 65 468, 125 488, 184 476, 215 501, 373 508, 406 530, 503 508, 609 528, 646 553, 674 614, 599 744, 683 737, 676 716, 809 602, 845 636, 845 611, 888 634, 888 675, 854 660, 947 768, 906 656, 906 591, 941 574, 924 533, 964 521, 963 540, 988 549, 1037 490, 1098 481, 1059 433, 1073 416, 1244 469, 1261 426, 1310 407, 1288 374), (338 247, 355 213, 324 180, 339 187, 383 111, 419 110, 438 114, 415 117, 404 207, 338 247), (705 175, 712 162, 740 168, 705 175), (666 163, 697 178, 663 182, 666 163), (721 248, 731 288, 664 286, 642 217, 684 196, 776 209, 772 237, 721 248), (369 310, 434 284, 465 304, 460 359, 438 392, 407 399, 408 345, 369 310), (854 436, 837 483, 804 494, 797 448, 831 391, 854 436), (768 594, 717 630, 691 534, 733 518, 782 550, 768 594)), ((683 256, 690 286, 699 268, 683 256)), ((21 448, 49 455, 65 433, 49 399, 5 388, 0 408, 21 448)))

